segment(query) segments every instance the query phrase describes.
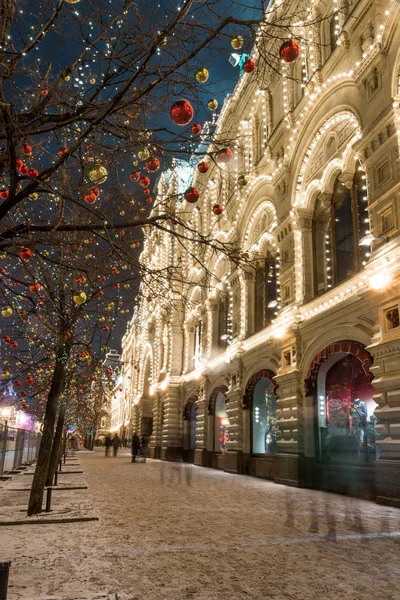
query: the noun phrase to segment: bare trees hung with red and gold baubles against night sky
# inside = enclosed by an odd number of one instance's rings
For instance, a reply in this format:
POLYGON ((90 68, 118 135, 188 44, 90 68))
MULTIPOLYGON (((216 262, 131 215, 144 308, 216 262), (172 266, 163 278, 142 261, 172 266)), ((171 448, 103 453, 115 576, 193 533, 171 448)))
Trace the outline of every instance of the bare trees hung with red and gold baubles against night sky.
MULTIPOLYGON (((244 260, 191 229, 182 208, 171 208, 183 199, 164 198, 150 212, 151 193, 176 157, 208 147, 214 160, 233 143, 204 128, 213 86, 199 81, 204 62, 221 52, 228 58, 231 44, 250 52, 266 4, 1 1, 1 381, 43 421, 29 515, 42 509, 65 427, 85 427, 100 414, 99 382, 111 376, 101 367, 104 353, 129 318, 139 281, 154 281, 162 295, 163 282, 179 277, 139 261, 146 229, 168 231, 183 248, 198 242, 244 260), (185 126, 182 114, 169 117, 181 99, 194 111, 185 126)), ((292 24, 306 14, 289 0, 270 11, 257 38, 260 64, 280 68, 269 40, 294 35, 292 24)), ((224 92, 219 87, 220 99, 224 92)))

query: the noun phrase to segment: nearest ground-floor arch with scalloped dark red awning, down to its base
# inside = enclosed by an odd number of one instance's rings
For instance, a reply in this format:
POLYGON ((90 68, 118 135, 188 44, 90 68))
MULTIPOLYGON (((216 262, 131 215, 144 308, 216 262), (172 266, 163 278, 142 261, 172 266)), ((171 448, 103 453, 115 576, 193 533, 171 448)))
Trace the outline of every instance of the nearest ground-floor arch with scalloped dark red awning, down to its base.
POLYGON ((364 346, 352 341, 331 344, 311 363, 306 394, 313 398, 315 461, 325 489, 373 487, 378 433, 371 364, 364 346))

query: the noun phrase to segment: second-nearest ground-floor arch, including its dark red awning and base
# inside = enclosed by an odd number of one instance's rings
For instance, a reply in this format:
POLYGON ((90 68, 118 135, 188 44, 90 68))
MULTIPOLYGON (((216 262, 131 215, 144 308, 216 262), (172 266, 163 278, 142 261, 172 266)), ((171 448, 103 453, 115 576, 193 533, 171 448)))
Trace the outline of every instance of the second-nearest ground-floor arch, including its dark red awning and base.
POLYGON ((274 478, 275 454, 278 452, 279 427, 275 373, 263 369, 247 382, 243 409, 247 411, 249 472, 274 478))

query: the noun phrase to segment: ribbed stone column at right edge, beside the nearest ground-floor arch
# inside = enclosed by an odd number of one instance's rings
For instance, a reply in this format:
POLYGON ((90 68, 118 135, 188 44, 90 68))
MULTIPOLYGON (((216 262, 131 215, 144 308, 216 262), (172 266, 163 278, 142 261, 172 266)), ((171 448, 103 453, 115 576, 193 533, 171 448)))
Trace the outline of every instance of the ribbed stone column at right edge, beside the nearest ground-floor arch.
POLYGON ((377 500, 400 507, 400 340, 372 344, 367 350, 374 358, 370 371, 378 404, 375 416, 379 433, 375 463, 377 500))

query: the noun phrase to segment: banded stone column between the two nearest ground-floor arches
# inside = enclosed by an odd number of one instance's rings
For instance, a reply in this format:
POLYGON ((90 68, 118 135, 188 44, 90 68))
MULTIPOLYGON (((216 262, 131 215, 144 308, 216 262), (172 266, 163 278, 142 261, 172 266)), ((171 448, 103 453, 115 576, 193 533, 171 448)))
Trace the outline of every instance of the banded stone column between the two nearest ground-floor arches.
POLYGON ((304 433, 303 430, 299 431, 299 418, 303 416, 301 409, 304 384, 298 370, 276 375, 275 381, 279 386, 277 416, 280 431, 275 481, 297 486, 299 451, 304 446, 304 433))

